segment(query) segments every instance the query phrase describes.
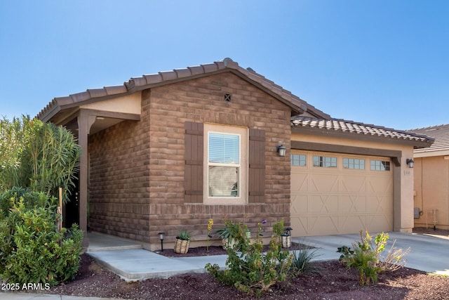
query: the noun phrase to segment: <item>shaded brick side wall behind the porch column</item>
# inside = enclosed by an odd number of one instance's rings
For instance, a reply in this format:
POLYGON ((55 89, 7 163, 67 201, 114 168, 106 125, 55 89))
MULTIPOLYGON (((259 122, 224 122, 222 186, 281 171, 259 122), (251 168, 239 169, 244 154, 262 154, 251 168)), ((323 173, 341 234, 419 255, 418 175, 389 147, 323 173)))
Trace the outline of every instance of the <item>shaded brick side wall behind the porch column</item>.
POLYGON ((148 133, 123 121, 89 138, 88 226, 149 242, 148 133))

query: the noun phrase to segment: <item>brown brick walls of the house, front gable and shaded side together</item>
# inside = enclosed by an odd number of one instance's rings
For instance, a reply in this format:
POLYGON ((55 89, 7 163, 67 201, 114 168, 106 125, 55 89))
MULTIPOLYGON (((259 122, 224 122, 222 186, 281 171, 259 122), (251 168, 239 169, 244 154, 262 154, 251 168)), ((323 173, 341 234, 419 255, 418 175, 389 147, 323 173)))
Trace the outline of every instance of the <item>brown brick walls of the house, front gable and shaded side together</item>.
POLYGON ((140 122, 121 122, 91 136, 90 226, 100 232, 159 245, 180 229, 206 240, 225 219, 250 228, 267 220, 290 223, 290 108, 232 74, 166 84, 142 92, 140 122), (224 100, 224 94, 232 100, 224 100), (185 204, 185 122, 247 126, 265 131, 264 202, 246 205, 185 204), (276 145, 288 149, 279 157, 276 145))

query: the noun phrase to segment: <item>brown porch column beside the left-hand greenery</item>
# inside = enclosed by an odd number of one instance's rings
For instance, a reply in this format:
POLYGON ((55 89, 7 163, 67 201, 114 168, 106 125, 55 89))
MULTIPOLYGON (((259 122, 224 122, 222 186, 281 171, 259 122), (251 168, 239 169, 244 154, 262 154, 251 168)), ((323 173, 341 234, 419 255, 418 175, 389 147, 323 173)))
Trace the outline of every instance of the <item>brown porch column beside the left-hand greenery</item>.
POLYGON ((87 237, 88 134, 93 122, 95 122, 95 116, 87 115, 85 111, 80 110, 78 115, 78 143, 81 148, 81 157, 79 158, 79 228, 84 232, 83 248, 87 248, 89 245, 87 237))

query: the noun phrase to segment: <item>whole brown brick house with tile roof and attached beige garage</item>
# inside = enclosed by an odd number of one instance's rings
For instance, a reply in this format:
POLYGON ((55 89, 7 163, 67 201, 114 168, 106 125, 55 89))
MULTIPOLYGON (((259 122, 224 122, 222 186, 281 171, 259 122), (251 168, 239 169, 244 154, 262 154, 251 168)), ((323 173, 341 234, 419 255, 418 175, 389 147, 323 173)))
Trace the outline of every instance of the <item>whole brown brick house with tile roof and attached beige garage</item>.
POLYGON ((332 119, 229 58, 55 98, 38 117, 67 126, 83 150, 66 220, 79 211, 83 230, 150 249, 161 231, 164 242, 180 229, 206 240, 210 218, 214 229, 244 221, 253 236, 262 219, 294 236, 410 232, 406 159, 432 143, 332 119))

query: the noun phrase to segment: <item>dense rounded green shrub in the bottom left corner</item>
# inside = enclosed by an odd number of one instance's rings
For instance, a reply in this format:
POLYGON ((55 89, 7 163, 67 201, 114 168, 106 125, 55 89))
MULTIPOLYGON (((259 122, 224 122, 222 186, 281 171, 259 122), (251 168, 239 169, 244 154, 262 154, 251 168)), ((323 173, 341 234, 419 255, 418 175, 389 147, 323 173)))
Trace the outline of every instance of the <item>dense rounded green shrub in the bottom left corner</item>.
POLYGON ((72 280, 79 268, 83 232, 77 226, 59 232, 54 210, 27 208, 24 197, 11 198, 11 207, 0 218, 0 277, 20 284, 72 280))

